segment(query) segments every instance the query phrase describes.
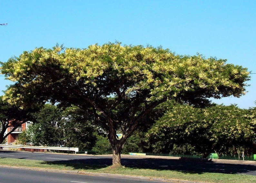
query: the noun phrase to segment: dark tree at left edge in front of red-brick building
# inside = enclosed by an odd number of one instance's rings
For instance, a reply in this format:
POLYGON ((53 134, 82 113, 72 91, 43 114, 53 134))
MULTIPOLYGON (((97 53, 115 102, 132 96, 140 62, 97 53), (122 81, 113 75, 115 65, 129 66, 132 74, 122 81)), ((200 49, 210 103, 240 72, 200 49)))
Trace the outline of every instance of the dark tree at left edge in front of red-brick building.
POLYGON ((15 105, 10 105, 3 101, 3 96, 0 96, 0 144, 5 141, 5 138, 15 131, 21 124, 32 120, 32 110, 20 109, 15 105), (9 127, 13 127, 10 132, 5 134, 9 127))

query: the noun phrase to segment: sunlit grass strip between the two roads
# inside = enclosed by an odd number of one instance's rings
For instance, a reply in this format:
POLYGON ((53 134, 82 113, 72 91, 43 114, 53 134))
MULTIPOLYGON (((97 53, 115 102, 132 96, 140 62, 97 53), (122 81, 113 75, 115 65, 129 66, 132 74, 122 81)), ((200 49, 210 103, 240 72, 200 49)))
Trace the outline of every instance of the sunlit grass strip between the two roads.
POLYGON ((256 176, 244 174, 222 174, 222 173, 186 173, 174 170, 138 169, 138 168, 110 168, 104 165, 88 165, 79 163, 54 164, 41 160, 23 160, 13 158, 0 158, 0 166, 15 166, 41 169, 76 170, 80 172, 110 173, 143 176, 151 178, 165 178, 177 180, 190 180, 212 183, 250 183, 256 182, 256 176))

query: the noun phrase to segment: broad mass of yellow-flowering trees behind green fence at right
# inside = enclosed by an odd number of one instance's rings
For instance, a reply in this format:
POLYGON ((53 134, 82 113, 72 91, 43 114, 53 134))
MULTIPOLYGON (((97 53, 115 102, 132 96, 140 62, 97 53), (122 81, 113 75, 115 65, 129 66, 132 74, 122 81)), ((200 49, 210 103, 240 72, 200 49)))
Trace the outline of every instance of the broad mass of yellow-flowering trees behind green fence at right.
POLYGON ((207 157, 212 151, 234 153, 251 148, 254 122, 248 110, 235 105, 195 108, 174 105, 149 130, 147 137, 157 152, 196 153, 207 157))

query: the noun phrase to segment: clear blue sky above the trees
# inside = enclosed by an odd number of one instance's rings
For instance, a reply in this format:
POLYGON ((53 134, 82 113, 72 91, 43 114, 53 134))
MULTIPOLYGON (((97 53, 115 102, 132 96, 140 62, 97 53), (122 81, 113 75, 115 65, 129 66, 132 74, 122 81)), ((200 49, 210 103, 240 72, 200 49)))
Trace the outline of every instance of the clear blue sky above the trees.
MULTIPOLYGON (((1 1, 0 61, 35 47, 91 44, 162 45, 182 55, 228 59, 256 73, 256 1, 1 1)), ((10 82, 0 76, 0 91, 10 82)), ((213 100, 255 107, 256 74, 240 98, 213 100)), ((0 92, 3 95, 3 92, 0 92)))

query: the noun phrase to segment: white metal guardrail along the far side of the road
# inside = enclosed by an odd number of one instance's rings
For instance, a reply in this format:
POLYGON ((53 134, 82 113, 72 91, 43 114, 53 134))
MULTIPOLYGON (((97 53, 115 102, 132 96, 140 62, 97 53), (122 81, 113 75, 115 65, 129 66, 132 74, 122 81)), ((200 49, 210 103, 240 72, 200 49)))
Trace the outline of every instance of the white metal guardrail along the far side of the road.
POLYGON ((44 147, 44 146, 7 145, 7 144, 0 144, 0 147, 21 148, 21 149, 45 149, 45 150, 75 151, 75 152, 79 151, 77 147, 44 147))

